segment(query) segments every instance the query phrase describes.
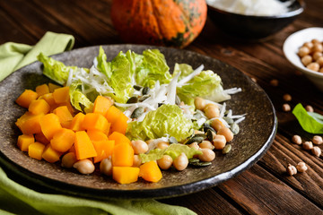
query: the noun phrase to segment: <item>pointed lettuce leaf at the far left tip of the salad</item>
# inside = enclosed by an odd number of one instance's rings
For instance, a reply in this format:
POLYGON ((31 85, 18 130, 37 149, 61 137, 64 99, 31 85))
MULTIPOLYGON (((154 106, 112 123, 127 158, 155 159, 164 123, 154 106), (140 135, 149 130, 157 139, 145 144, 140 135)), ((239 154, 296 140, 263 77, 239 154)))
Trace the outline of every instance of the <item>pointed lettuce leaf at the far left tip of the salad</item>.
POLYGON ((77 68, 76 66, 66 66, 62 62, 54 60, 51 57, 44 56, 42 53, 40 53, 37 58, 44 64, 43 74, 61 85, 65 85, 70 70, 77 68))

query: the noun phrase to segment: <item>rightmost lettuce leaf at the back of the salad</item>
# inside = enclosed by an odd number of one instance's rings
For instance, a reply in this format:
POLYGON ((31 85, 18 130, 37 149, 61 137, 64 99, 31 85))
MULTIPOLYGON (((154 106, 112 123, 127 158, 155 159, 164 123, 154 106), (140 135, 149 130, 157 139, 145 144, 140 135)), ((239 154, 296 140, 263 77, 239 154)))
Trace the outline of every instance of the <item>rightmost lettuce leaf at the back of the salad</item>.
POLYGON ((231 99, 230 95, 223 92, 220 76, 210 70, 202 71, 189 82, 178 87, 177 94, 180 100, 190 106, 194 105, 195 97, 201 97, 216 102, 231 99))

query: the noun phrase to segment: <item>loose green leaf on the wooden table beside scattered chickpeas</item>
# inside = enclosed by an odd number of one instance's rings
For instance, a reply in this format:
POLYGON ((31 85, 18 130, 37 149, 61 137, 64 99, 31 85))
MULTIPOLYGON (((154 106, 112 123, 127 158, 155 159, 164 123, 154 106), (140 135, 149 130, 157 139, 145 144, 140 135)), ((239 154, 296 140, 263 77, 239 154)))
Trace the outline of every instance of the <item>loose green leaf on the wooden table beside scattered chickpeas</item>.
POLYGON ((299 121, 302 129, 308 133, 323 133, 323 116, 315 112, 307 112, 298 104, 292 109, 292 114, 299 121))

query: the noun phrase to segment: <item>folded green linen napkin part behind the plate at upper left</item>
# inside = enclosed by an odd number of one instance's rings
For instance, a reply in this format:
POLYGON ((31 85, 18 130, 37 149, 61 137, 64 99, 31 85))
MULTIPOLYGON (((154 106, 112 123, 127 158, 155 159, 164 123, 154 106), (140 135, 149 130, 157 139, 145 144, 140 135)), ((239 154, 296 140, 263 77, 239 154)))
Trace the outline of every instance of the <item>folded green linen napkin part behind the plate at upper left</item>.
POLYGON ((7 42, 0 46, 0 82, 6 76, 37 60, 40 52, 46 56, 72 49, 74 37, 48 31, 35 46, 7 42))

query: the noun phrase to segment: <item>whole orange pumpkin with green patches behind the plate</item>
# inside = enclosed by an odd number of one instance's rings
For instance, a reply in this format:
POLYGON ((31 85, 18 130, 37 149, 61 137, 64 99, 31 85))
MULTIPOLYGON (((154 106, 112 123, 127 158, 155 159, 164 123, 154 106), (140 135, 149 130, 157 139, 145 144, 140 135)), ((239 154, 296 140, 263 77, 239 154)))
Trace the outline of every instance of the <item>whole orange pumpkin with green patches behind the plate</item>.
POLYGON ((114 0, 111 19, 128 43, 186 47, 206 21, 205 0, 114 0))

